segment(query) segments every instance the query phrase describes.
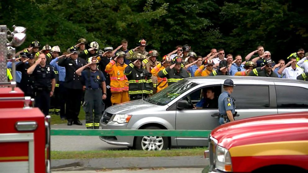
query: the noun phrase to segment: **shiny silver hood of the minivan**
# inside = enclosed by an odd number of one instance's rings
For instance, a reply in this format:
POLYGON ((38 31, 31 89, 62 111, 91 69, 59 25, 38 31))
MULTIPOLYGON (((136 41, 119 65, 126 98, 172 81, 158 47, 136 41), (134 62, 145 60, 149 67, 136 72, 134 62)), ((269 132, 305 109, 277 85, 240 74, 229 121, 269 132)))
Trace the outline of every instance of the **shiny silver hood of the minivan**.
POLYGON ((129 101, 129 102, 125 102, 122 104, 116 104, 114 106, 111 106, 106 109, 106 112, 111 113, 111 114, 117 114, 117 113, 131 114, 133 112, 143 111, 143 113, 146 113, 148 111, 147 109, 158 108, 158 107, 161 107, 161 106, 156 105, 156 104, 151 104, 144 100, 134 100, 134 101, 129 101))

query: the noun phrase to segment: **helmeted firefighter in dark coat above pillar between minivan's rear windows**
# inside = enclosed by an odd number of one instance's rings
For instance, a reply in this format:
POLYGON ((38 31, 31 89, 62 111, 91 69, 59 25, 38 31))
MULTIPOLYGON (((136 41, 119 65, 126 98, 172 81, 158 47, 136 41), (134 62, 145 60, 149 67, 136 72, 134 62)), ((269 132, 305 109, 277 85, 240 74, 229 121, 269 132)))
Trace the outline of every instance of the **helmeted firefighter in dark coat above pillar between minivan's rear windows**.
POLYGON ((248 73, 248 76, 262 76, 262 77, 278 78, 277 74, 274 73, 272 70, 272 64, 274 64, 274 61, 270 58, 267 58, 264 60, 264 63, 262 63, 263 67, 258 67, 258 68, 251 70, 251 72, 248 73))

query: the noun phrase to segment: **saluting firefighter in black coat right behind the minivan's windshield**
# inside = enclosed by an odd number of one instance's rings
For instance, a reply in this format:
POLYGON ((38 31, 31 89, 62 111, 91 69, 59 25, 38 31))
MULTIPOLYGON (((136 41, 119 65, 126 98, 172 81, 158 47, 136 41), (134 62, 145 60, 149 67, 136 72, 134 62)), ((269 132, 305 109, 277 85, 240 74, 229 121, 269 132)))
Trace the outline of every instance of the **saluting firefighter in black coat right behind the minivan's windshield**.
POLYGON ((168 79, 168 86, 182 80, 183 78, 189 78, 187 70, 182 68, 181 64, 183 64, 183 59, 181 57, 175 56, 173 63, 173 65, 170 65, 170 67, 167 67, 158 73, 159 77, 166 77, 168 79))

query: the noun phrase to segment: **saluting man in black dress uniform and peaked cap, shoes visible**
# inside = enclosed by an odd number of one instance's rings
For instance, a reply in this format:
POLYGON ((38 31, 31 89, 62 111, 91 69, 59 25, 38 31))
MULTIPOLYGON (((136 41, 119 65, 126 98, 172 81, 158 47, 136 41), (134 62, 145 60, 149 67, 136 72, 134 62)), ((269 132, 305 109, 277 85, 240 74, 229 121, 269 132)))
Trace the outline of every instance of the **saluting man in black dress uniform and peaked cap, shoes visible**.
POLYGON ((85 60, 78 58, 78 51, 76 48, 70 49, 70 54, 65 58, 58 61, 58 65, 65 67, 65 82, 64 87, 66 90, 66 119, 67 125, 73 124, 82 126, 78 116, 80 112, 83 81, 80 76, 76 74, 76 70, 86 64, 85 60), (70 58, 68 58, 70 56, 70 58))

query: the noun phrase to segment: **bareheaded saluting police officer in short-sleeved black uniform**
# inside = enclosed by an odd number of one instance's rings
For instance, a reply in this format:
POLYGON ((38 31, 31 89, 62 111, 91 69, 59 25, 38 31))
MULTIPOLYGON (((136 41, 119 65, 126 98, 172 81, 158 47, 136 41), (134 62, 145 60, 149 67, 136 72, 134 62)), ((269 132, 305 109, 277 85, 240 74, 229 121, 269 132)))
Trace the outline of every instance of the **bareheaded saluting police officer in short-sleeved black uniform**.
POLYGON ((50 97, 56 85, 52 66, 46 64, 46 56, 41 54, 34 65, 29 67, 27 73, 33 74, 34 77, 35 107, 41 109, 46 116, 50 107, 50 97))

